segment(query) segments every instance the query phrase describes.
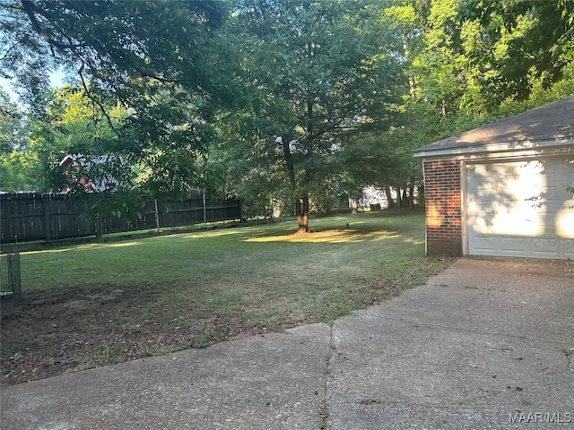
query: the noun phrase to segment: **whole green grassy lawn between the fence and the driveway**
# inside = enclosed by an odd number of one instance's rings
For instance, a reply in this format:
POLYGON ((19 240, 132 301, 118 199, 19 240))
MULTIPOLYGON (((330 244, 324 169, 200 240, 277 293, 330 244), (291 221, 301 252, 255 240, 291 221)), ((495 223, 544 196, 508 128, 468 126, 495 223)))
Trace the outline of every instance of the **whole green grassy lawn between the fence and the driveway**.
POLYGON ((4 378, 330 323, 447 265, 424 256, 419 211, 311 219, 310 227, 309 235, 280 222, 22 254, 24 300, 3 303, 2 359, 3 368, 19 360, 29 368, 8 366, 4 378), (26 330, 16 327, 22 318, 26 330), (45 368, 56 346, 65 358, 45 368))

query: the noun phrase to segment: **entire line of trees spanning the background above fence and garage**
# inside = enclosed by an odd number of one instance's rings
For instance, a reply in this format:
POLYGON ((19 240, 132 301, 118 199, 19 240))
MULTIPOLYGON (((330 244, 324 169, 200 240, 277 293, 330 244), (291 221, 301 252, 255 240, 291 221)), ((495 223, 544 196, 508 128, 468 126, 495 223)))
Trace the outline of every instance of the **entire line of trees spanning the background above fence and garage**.
POLYGON ((78 174, 117 208, 204 189, 305 232, 366 185, 412 199, 413 149, 574 92, 570 0, 0 4, 8 192, 83 193, 59 161, 106 156, 78 174))

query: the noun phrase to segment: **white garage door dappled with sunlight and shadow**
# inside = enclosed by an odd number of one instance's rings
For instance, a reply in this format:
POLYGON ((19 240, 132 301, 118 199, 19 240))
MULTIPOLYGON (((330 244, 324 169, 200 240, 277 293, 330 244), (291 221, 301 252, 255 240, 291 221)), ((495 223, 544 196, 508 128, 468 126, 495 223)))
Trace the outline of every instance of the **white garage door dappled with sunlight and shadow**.
POLYGON ((574 159, 466 165, 467 252, 574 259, 574 159))

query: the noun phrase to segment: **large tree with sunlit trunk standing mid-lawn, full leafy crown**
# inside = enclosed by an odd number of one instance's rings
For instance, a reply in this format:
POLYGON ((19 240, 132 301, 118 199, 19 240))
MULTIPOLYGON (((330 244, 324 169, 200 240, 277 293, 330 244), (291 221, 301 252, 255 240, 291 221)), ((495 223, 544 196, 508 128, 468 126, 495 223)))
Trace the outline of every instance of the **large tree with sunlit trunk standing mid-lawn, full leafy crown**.
POLYGON ((397 101, 400 70, 370 3, 246 0, 229 22, 253 94, 231 143, 250 145, 249 171, 269 185, 281 166, 300 232, 310 204, 341 184, 353 133, 386 126, 397 101))

